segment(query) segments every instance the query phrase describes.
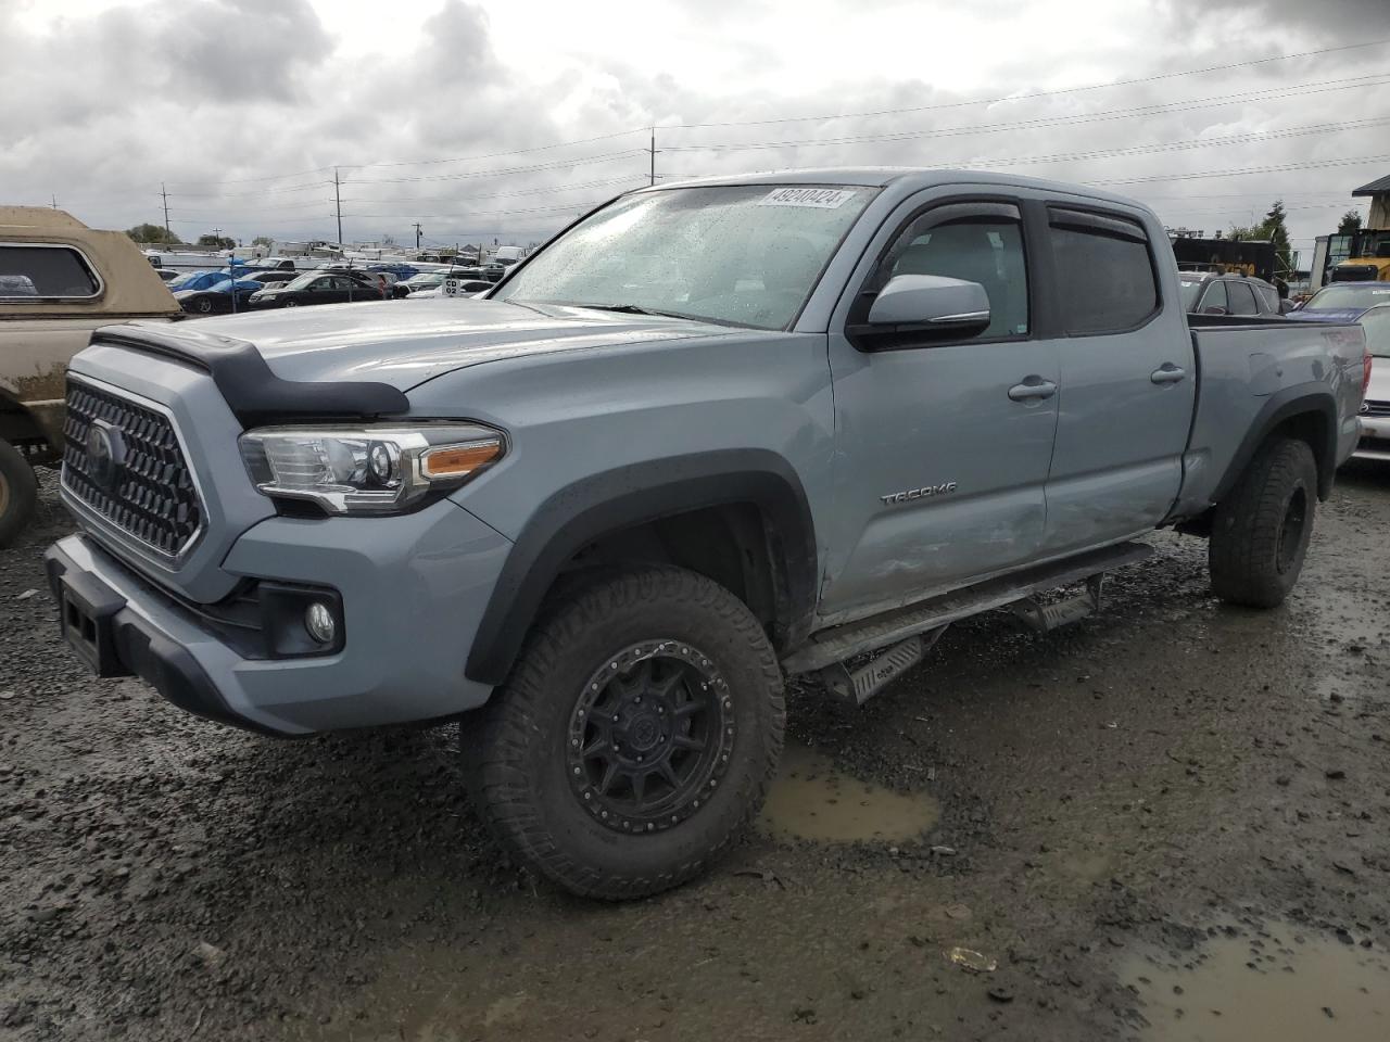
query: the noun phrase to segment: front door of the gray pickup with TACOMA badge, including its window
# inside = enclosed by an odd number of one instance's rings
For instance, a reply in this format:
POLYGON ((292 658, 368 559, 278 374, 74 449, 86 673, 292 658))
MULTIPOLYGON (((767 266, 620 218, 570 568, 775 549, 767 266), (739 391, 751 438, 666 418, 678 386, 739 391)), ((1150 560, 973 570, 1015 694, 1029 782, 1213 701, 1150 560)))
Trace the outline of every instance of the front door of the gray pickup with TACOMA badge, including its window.
POLYGON ((1034 557, 1045 529, 1058 349, 1036 332, 1034 242, 1019 201, 909 201, 870 246, 830 326, 835 507, 823 622, 960 586, 1034 557), (862 350, 862 322, 894 275, 969 279, 990 326, 962 340, 862 350))

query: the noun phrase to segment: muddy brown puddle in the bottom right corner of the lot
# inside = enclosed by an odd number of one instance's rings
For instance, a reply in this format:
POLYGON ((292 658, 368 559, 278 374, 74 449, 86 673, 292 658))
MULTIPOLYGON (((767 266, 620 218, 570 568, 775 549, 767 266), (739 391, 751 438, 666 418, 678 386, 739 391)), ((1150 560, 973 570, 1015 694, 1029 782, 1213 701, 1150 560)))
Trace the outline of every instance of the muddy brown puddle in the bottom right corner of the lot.
POLYGON ((1134 957, 1144 1042, 1384 1042, 1390 960, 1293 927, 1218 936, 1183 963, 1134 957))

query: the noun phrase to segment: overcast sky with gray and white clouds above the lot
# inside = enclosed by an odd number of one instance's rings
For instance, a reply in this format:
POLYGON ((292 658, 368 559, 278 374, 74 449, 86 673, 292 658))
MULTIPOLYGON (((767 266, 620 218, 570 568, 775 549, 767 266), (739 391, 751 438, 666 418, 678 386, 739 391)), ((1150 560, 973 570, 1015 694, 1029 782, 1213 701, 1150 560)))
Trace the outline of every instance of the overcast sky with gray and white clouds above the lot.
POLYGON ((164 185, 185 239, 336 238, 335 167, 349 240, 539 239, 652 126, 662 179, 998 168, 1208 233, 1282 197, 1295 247, 1390 172, 1390 0, 0 0, 0 201, 126 228, 164 185))

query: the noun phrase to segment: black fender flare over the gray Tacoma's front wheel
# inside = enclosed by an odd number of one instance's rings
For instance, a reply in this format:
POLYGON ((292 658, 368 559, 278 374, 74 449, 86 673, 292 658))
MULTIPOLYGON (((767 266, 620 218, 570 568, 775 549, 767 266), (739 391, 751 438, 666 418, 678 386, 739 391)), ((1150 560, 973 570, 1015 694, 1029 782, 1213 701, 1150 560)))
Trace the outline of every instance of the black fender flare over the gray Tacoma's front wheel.
POLYGON ((663 517, 738 503, 763 514, 780 627, 805 631, 815 610, 819 554, 796 471, 763 449, 692 453, 600 471, 542 502, 502 565, 464 675, 493 686, 506 681, 542 599, 585 545, 663 517))

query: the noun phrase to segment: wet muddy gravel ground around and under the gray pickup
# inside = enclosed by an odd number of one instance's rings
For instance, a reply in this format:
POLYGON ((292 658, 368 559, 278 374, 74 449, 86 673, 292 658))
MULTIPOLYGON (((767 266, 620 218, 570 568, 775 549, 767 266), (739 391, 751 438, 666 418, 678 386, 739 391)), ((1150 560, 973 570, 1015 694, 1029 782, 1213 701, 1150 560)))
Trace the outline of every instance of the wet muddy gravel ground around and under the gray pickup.
POLYGON ((68 527, 49 481, 0 552, 4 1039, 1168 1039, 1134 960, 1390 948, 1387 470, 1343 475, 1276 611, 1156 534, 1099 615, 956 627, 852 714, 796 692, 794 741, 937 824, 755 834, 626 906, 506 863, 452 728, 277 742, 88 677, 42 577, 68 527))

